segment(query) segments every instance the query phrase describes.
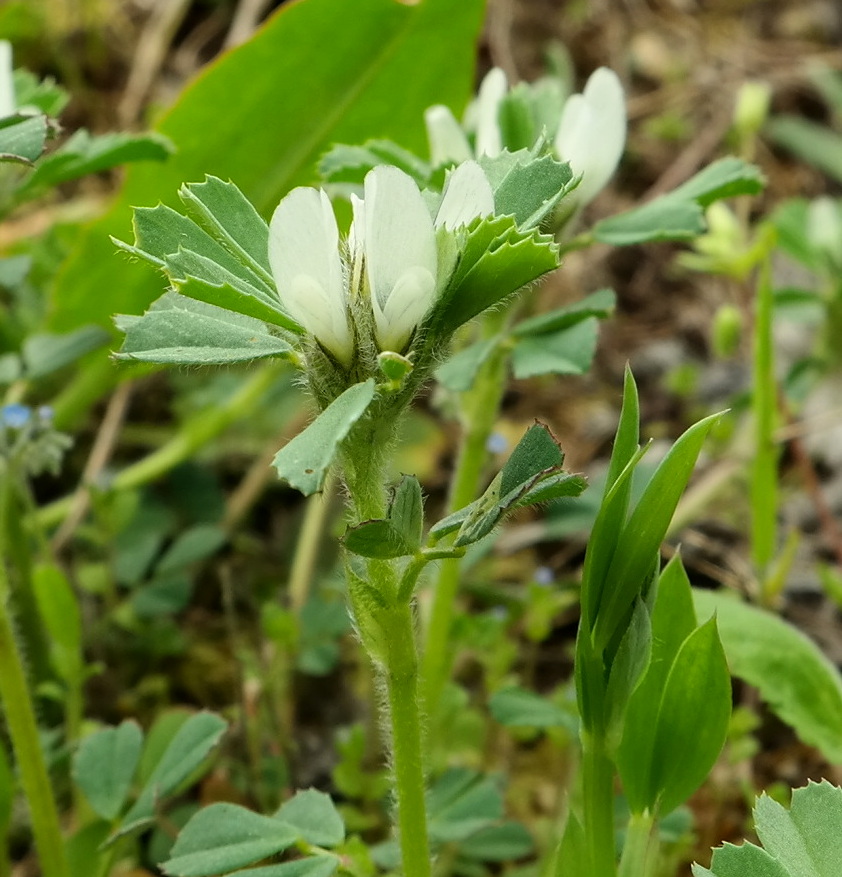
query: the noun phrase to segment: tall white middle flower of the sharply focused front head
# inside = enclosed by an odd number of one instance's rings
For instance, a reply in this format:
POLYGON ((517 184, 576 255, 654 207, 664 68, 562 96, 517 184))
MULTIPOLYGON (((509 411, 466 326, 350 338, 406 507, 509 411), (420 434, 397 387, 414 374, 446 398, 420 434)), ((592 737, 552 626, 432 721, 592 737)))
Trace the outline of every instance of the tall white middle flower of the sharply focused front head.
POLYGON ((379 314, 378 338, 381 343, 386 337, 408 338, 420 319, 415 315, 423 315, 429 308, 433 289, 427 289, 423 282, 413 281, 406 288, 402 284, 409 282, 407 277, 420 276, 413 273, 416 269, 436 276, 433 220, 413 179, 395 167, 380 166, 369 171, 364 189, 365 262, 375 319, 379 314), (403 304, 390 307, 396 289, 403 304), (407 300, 412 296, 418 300, 410 306, 407 300), (401 325, 387 326, 390 315, 399 318, 401 325))

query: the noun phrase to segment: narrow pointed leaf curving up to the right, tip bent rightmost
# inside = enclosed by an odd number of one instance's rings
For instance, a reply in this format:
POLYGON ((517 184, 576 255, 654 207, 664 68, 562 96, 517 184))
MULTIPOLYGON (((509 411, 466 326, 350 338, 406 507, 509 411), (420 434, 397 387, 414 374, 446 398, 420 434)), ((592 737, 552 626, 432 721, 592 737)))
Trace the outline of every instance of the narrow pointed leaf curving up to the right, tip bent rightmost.
POLYGON ((612 639, 640 593, 704 440, 719 417, 713 414, 700 420, 676 440, 623 527, 596 612, 593 635, 597 648, 604 648, 612 639))

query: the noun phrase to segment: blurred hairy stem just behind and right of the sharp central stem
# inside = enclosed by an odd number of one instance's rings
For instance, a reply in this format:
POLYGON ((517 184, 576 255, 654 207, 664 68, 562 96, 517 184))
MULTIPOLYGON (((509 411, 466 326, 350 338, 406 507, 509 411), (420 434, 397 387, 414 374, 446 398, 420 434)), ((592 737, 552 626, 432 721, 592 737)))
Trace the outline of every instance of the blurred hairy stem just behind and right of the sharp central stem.
MULTIPOLYGON (((486 320, 487 337, 500 331, 506 316, 506 312, 501 311, 486 320)), ((488 458, 488 437, 505 392, 506 357, 506 351, 498 348, 480 369, 473 388, 463 396, 465 431, 451 485, 448 514, 473 502, 479 491, 488 458)), ((424 701, 431 715, 436 712, 453 660, 450 632, 456 612, 460 566, 457 558, 443 560, 433 588, 421 666, 424 701)))

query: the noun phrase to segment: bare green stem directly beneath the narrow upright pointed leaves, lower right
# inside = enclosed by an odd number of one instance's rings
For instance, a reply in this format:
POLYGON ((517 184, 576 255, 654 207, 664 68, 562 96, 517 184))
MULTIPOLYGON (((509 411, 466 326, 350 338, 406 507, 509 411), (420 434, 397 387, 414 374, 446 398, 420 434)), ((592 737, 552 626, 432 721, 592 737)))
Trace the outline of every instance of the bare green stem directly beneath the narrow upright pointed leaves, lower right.
POLYGON ((599 737, 582 740, 585 845, 590 857, 588 877, 616 877, 614 850, 614 765, 599 737))

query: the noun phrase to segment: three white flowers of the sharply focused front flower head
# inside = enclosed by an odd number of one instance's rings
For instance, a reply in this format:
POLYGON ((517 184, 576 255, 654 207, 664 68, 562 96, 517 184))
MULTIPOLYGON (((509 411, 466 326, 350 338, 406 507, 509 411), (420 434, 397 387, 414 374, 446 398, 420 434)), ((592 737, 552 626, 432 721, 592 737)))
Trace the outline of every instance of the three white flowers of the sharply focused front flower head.
POLYGON ((346 367, 359 330, 354 297, 370 302, 380 350, 402 353, 450 280, 455 232, 492 214, 494 196, 480 166, 467 161, 449 175, 432 214, 411 177, 381 166, 352 205, 346 244, 320 189, 293 189, 269 225, 269 264, 285 310, 346 367))

